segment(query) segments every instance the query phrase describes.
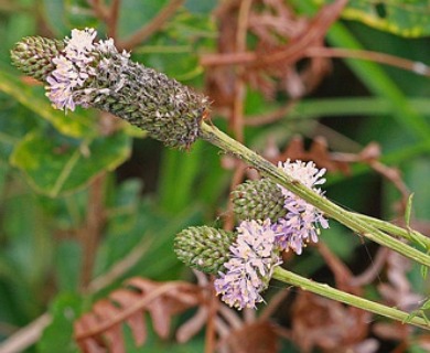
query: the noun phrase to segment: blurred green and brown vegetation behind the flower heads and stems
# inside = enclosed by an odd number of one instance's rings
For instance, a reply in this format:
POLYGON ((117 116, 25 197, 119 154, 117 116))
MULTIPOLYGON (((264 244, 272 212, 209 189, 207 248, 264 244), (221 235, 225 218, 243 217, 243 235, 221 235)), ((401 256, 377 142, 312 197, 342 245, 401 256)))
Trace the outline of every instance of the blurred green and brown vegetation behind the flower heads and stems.
MULTIPOLYGON (((212 122, 266 158, 326 168, 336 203, 401 223, 415 192, 412 226, 430 234, 430 7, 346 2, 0 1, 1 353, 77 352, 74 323, 92 310, 111 320, 103 340, 94 334, 111 352, 430 350, 424 332, 276 282, 256 313, 215 310, 173 237, 189 225, 233 227, 228 192, 255 172, 203 141, 180 152, 99 111, 64 115, 10 65, 23 36, 96 28, 132 60, 205 92, 212 122), (149 302, 165 284, 175 295, 149 302), (106 298, 126 298, 121 288, 138 298, 112 307, 106 298), (146 328, 115 321, 139 300, 128 318, 146 328)), ((286 263, 406 310, 428 296, 418 266, 334 222, 286 263)), ((104 352, 95 342, 87 352, 104 352)))

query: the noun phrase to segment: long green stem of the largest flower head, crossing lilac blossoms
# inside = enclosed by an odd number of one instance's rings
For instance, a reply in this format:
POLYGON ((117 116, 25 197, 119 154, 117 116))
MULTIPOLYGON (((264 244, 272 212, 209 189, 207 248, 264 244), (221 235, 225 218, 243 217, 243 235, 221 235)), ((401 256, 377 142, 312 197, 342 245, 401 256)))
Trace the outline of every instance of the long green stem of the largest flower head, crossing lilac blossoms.
POLYGON ((298 180, 294 180, 291 175, 286 174, 280 168, 277 168, 261 156, 228 137, 215 126, 203 122, 202 138, 212 145, 217 146, 225 152, 232 153, 244 160, 249 165, 260 171, 262 175, 270 178, 273 182, 293 192, 304 201, 324 212, 329 217, 338 221, 357 234, 361 234, 373 242, 402 254, 404 256, 409 257, 419 264, 430 266, 430 256, 427 254, 423 254, 420 250, 417 250, 407 244, 390 237, 388 234, 379 231, 369 222, 358 217, 356 213, 348 212, 337 206, 330 200, 315 193, 313 190, 307 188, 298 180))

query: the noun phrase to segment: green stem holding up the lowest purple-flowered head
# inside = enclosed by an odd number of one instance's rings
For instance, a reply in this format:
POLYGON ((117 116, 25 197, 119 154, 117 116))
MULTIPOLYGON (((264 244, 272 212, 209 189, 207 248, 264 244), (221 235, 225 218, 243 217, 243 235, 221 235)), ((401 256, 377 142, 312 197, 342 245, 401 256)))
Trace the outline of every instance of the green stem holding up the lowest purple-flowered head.
POLYGON ((308 290, 315 295, 320 295, 325 298, 334 299, 336 301, 344 302, 348 306, 359 308, 389 319, 394 319, 400 322, 407 322, 409 324, 413 324, 418 328, 430 330, 429 324, 424 319, 419 317, 409 317, 409 314, 405 311, 389 308, 387 306, 379 304, 377 302, 356 297, 350 293, 346 293, 342 290, 332 288, 324 284, 315 282, 311 279, 301 277, 297 274, 290 272, 282 267, 277 266, 273 271, 272 278, 276 278, 284 284, 292 285, 294 287, 299 287, 303 290, 308 290))

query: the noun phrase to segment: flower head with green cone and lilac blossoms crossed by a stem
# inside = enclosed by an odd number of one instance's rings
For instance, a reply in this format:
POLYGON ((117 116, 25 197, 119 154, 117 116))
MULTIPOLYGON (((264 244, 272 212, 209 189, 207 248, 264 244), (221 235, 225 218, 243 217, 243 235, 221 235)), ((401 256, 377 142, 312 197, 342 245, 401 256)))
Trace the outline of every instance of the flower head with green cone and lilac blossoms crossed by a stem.
MULTIPOLYGON (((316 188, 325 182, 325 170, 319 170, 313 162, 291 162, 278 165, 286 173, 307 188, 322 194, 316 188)), ((292 249, 300 255, 308 243, 316 243, 319 226, 329 227, 323 214, 313 205, 269 179, 247 181, 233 192, 234 212, 239 220, 267 220, 272 222, 280 249, 292 249)))

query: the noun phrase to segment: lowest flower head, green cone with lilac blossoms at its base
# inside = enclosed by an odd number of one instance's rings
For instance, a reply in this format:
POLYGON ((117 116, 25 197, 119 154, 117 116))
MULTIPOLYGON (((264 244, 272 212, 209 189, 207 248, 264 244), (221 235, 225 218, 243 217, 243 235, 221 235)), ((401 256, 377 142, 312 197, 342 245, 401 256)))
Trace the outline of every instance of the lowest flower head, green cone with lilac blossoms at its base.
POLYGON ((262 301, 276 266, 281 264, 270 220, 244 221, 235 233, 190 227, 175 237, 175 253, 190 267, 217 276, 221 299, 238 309, 262 301))

